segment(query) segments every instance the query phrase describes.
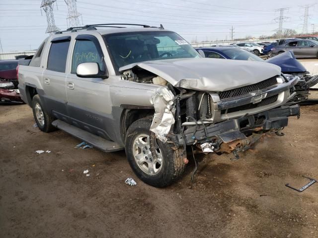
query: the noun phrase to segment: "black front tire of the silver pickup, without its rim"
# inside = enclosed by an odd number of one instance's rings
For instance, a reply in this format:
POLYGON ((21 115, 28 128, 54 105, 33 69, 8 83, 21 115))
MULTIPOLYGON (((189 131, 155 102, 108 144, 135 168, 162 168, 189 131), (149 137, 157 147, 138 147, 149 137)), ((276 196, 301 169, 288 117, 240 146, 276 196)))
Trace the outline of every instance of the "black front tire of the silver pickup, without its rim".
MULTIPOLYGON (((135 160, 134 143, 135 140, 143 134, 150 136, 150 125, 150 118, 136 120, 130 125, 127 130, 127 136, 125 140, 126 155, 132 170, 139 179, 151 186, 165 187, 170 185, 176 179, 180 178, 180 176, 183 174, 184 168, 186 166, 186 164, 183 162, 183 149, 172 149, 171 144, 163 143, 159 139, 156 139, 156 144, 160 149, 160 153, 162 153, 162 164, 160 165, 162 167, 158 174, 149 175, 145 173, 135 160)), ((148 165, 147 162, 146 164, 148 165)))

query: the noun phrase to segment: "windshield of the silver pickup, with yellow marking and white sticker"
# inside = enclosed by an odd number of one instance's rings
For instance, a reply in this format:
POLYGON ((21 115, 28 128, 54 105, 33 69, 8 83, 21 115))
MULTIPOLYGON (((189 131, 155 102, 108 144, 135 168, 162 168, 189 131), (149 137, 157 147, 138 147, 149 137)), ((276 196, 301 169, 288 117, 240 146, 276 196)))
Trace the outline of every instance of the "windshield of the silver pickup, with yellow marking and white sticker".
POLYGON ((199 53, 174 32, 125 32, 104 35, 117 69, 147 60, 200 58, 199 53))

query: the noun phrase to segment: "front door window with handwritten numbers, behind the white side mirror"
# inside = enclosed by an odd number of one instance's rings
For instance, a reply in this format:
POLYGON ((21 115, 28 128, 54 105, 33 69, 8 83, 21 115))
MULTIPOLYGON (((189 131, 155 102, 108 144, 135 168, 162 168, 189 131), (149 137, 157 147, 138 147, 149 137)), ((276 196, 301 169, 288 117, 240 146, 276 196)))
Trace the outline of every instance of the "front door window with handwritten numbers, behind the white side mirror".
POLYGON ((78 65, 85 62, 98 63, 100 70, 104 70, 103 56, 95 43, 90 40, 79 39, 76 40, 74 47, 72 72, 76 72, 78 65))

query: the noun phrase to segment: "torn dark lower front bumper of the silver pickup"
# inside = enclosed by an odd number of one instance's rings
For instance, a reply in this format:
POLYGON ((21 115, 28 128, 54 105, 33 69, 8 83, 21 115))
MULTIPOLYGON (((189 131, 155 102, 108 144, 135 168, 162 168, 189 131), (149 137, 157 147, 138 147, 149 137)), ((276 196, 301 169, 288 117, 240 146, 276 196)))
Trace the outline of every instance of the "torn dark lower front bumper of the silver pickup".
POLYGON ((277 131, 288 124, 288 117, 300 115, 298 105, 282 106, 256 115, 230 119, 203 126, 187 126, 184 130, 184 140, 186 145, 205 143, 208 141, 218 141, 221 143, 231 143, 237 140, 245 140, 246 145, 251 145, 253 141, 248 136, 253 133, 262 134, 268 131, 277 131))

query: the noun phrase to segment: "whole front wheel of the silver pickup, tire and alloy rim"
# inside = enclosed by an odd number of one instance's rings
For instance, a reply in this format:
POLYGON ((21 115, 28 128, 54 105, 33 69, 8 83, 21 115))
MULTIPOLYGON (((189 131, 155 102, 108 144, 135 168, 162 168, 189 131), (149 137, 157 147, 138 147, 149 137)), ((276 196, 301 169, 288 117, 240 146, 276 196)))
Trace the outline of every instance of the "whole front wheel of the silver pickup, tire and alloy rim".
POLYGON ((182 148, 172 149, 172 144, 155 141, 156 157, 150 148, 150 119, 139 119, 127 130, 125 150, 128 162, 145 183, 155 187, 165 187, 178 179, 185 168, 182 148))

